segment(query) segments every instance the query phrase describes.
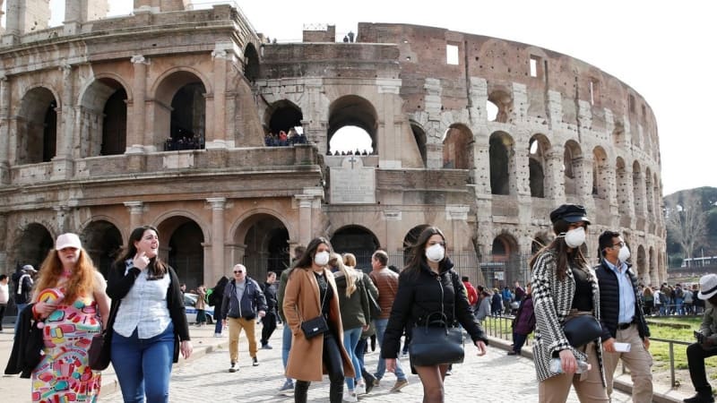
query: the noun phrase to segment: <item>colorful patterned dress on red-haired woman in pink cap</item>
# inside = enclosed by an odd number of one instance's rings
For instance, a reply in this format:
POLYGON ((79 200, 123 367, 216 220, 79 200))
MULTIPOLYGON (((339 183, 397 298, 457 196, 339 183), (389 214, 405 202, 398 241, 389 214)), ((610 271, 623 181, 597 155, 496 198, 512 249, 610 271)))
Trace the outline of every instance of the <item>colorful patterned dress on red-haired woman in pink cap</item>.
MULTIPOLYGON (((53 292, 61 297, 63 291, 44 290, 39 300, 47 301, 43 296, 53 292)), ((33 402, 97 401, 101 373, 91 370, 87 350, 92 336, 101 330, 97 303, 92 297, 60 304, 50 313, 43 329, 45 356, 32 372, 33 402)))

